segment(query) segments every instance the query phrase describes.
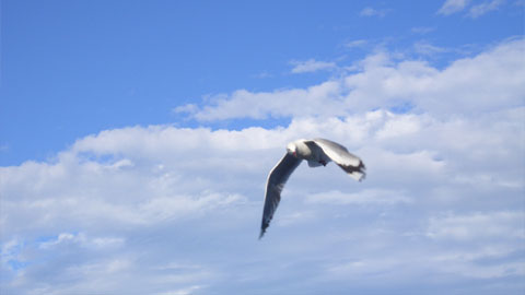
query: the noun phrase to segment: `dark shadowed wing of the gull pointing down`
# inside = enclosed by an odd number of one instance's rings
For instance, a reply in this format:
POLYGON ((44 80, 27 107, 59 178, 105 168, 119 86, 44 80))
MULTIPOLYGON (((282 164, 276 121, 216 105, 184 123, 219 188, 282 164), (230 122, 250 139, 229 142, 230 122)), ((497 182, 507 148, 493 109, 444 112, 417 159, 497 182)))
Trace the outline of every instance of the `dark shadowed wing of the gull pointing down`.
POLYGON ((279 201, 281 200, 281 191, 284 187, 284 184, 287 184, 290 175, 299 166, 299 164, 301 164, 301 161, 302 160, 287 153, 268 175, 265 193, 265 209, 262 211, 262 223, 260 225, 259 238, 262 237, 266 228, 270 225, 271 217, 273 217, 273 213, 279 205, 279 201))

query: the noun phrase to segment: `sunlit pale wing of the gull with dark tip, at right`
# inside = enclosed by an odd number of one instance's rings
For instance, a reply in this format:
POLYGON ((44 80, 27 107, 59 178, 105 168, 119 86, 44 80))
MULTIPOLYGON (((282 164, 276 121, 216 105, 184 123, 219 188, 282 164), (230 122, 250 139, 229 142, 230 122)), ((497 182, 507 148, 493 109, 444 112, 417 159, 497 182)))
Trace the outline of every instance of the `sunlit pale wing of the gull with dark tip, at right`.
POLYGON ((361 158, 348 152, 347 148, 326 139, 314 139, 313 142, 350 177, 359 181, 364 179, 366 167, 361 158))

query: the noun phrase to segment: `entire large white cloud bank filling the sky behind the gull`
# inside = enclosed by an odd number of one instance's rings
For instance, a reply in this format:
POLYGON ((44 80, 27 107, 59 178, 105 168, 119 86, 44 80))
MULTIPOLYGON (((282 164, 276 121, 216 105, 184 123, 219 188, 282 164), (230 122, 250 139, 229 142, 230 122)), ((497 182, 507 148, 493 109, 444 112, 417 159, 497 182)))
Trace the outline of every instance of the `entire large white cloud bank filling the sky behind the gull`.
POLYGON ((317 85, 178 109, 283 127, 103 130, 0 167, 2 292, 523 288, 523 52, 511 39, 444 69, 376 52, 317 85), (267 173, 288 141, 314 137, 361 156, 366 180, 300 166, 258 241, 267 173))

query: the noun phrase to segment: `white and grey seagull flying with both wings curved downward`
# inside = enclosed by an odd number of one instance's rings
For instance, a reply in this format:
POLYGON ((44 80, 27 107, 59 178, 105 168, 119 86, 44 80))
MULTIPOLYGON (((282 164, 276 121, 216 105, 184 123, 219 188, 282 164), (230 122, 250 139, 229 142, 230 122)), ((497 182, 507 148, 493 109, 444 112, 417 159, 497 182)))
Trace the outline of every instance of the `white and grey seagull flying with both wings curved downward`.
POLYGON ((358 181, 363 180, 366 175, 366 168, 361 158, 348 152, 339 143, 326 139, 301 139, 290 142, 287 145, 287 153, 268 175, 259 239, 265 235, 266 228, 270 225, 288 178, 290 178, 290 175, 303 160, 308 162, 310 167, 326 166, 330 161, 334 161, 350 177, 358 181))

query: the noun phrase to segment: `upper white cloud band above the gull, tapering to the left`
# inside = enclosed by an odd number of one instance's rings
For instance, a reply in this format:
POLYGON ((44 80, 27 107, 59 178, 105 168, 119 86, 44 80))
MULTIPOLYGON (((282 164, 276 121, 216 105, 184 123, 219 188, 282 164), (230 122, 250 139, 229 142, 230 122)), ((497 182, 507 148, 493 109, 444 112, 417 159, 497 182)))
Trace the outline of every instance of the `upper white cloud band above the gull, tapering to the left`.
MULTIPOLYGON (((428 44, 420 49, 444 50, 428 44)), ((509 40, 442 70, 423 61, 396 62, 382 51, 361 61, 358 72, 340 79, 307 88, 240 90, 198 109, 192 107, 189 115, 201 121, 329 117, 409 103, 420 111, 448 116, 515 107, 523 103, 525 92, 524 51, 523 39, 509 40)))

